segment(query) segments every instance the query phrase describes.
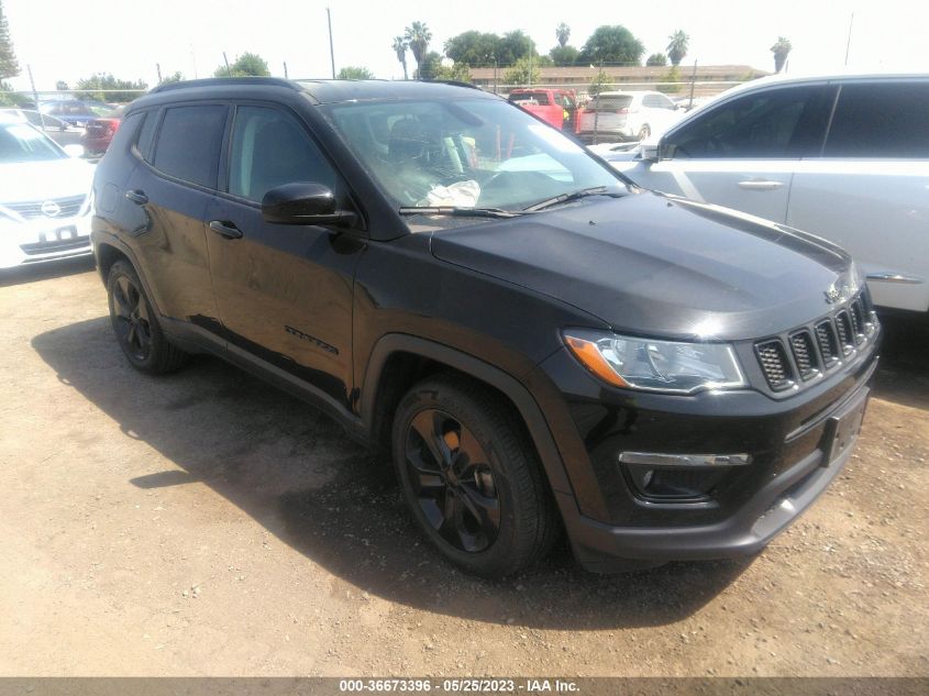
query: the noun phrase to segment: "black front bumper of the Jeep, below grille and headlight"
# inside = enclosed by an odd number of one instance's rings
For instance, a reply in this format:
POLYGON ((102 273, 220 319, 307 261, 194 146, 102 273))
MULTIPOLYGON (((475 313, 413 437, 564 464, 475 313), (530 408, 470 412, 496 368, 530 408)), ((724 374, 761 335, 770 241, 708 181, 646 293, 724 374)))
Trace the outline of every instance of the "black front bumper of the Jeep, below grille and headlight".
POLYGON ((553 431, 573 488, 555 497, 580 564, 616 572, 761 551, 826 490, 851 456, 878 343, 875 335, 841 375, 779 401, 748 391, 698 398, 619 395, 586 374, 578 377, 568 355, 550 358, 545 372, 566 398, 576 428, 553 431), (836 445, 837 433, 843 446, 836 445), (619 462, 624 451, 746 452, 752 462, 726 469, 701 498, 654 499, 637 488, 619 462))

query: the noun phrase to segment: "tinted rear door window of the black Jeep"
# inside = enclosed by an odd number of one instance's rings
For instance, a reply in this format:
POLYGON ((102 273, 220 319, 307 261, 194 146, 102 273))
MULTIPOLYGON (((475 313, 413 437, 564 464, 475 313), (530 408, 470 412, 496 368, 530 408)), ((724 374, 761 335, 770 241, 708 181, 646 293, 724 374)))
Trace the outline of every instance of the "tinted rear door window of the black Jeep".
POLYGON ((168 176, 215 188, 228 112, 224 104, 165 110, 152 164, 168 176))

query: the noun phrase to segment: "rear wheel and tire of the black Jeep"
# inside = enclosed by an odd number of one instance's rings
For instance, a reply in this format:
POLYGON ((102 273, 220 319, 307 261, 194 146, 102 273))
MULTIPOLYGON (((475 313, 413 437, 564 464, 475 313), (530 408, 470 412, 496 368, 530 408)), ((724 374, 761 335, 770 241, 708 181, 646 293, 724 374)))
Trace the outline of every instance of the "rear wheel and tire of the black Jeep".
POLYGON ((110 323, 130 365, 150 375, 162 375, 187 362, 189 355, 162 331, 139 274, 128 261, 118 261, 110 268, 107 296, 110 323))

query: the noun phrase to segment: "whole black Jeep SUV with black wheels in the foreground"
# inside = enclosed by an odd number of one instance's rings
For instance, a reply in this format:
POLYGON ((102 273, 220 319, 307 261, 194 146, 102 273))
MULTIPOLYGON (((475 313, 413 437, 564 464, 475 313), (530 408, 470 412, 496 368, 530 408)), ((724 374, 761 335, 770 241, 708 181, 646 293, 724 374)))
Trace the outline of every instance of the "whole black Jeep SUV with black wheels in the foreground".
POLYGON ((468 572, 562 527, 595 571, 755 553, 864 415, 881 329, 844 252, 642 191, 478 89, 161 86, 93 190, 129 363, 210 352, 316 404, 468 572))

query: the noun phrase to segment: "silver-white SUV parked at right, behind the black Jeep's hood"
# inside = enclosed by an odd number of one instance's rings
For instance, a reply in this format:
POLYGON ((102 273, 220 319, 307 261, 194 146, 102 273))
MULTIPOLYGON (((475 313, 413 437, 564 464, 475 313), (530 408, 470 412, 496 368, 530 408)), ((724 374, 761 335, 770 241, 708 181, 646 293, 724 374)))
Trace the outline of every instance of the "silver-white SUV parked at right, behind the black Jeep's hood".
POLYGON ((840 244, 876 305, 929 310, 927 75, 763 78, 607 157, 645 188, 840 244))

